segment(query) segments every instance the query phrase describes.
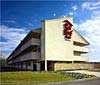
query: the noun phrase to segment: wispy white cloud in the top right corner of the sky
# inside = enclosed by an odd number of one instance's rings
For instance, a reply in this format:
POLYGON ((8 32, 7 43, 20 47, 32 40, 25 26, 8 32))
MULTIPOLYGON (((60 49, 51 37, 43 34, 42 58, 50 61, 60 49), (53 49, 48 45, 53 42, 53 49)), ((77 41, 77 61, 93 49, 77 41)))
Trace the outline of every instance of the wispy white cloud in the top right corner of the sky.
POLYGON ((100 1, 98 2, 84 2, 82 4, 82 9, 94 10, 100 8, 100 1))

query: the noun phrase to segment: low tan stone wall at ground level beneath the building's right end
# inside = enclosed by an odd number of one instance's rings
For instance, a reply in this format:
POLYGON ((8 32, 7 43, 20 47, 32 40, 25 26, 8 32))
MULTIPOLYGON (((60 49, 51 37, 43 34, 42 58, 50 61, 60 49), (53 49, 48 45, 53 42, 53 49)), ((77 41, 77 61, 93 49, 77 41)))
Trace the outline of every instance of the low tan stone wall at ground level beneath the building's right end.
POLYGON ((84 64, 84 63, 55 63, 54 64, 54 71, 57 70, 71 70, 71 69, 93 69, 93 64, 84 64))

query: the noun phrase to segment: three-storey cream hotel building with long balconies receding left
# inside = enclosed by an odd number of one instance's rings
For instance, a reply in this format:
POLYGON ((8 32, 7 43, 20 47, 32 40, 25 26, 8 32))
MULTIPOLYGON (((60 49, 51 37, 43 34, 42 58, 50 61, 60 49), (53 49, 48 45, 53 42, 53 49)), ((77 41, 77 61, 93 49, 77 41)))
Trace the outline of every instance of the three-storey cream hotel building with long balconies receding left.
POLYGON ((89 52, 86 47, 89 42, 74 29, 72 17, 43 20, 41 25, 31 30, 10 54, 9 65, 33 71, 56 71, 66 70, 69 63, 89 61, 83 56, 89 52), (64 32, 66 20, 73 29, 70 37, 64 32))

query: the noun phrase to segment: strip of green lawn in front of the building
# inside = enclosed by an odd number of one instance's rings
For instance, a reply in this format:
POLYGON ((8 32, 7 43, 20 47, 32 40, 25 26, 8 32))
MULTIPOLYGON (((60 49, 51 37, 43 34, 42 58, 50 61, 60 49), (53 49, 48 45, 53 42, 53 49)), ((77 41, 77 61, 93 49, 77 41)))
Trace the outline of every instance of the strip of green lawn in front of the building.
POLYGON ((1 72, 1 83, 47 83, 74 80, 74 77, 54 72, 1 72))

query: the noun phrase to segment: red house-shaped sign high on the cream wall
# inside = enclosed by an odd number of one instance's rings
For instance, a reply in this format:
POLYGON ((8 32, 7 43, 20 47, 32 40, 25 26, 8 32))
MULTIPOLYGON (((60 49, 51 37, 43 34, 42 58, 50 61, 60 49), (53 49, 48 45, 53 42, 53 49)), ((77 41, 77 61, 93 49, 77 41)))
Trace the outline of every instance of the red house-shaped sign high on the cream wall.
POLYGON ((63 22, 65 22, 65 24, 64 24, 65 39, 69 40, 69 39, 71 39, 71 36, 72 36, 72 32, 73 32, 72 26, 73 25, 68 20, 65 20, 63 22))

